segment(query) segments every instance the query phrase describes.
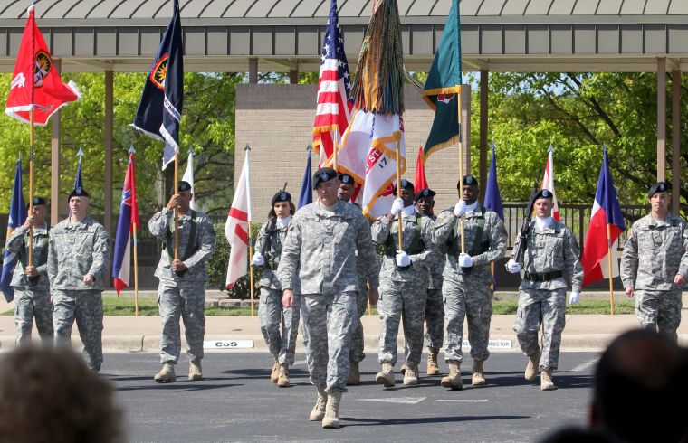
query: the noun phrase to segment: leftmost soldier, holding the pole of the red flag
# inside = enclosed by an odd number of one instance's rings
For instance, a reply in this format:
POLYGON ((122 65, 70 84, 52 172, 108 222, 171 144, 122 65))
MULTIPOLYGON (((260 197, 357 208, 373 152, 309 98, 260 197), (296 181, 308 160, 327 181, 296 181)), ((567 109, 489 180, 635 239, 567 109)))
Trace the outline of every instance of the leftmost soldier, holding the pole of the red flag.
POLYGON ((31 341, 33 317, 36 318, 38 335, 44 342, 53 339, 53 306, 50 303, 50 282, 48 281, 48 231, 45 222, 45 199, 33 197, 33 213, 24 225, 15 229, 7 240, 7 250, 16 254, 17 264, 12 276, 14 288, 14 324, 16 344, 31 341), (33 264, 29 265, 29 229, 33 227, 33 264))

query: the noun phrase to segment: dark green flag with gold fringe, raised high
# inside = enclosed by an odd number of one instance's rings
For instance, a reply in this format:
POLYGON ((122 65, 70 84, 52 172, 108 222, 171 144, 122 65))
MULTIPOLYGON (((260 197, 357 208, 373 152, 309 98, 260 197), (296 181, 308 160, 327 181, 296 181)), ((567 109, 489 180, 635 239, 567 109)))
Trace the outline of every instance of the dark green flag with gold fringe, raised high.
POLYGON ((457 101, 461 92, 460 20, 459 0, 452 0, 452 10, 423 88, 423 98, 435 110, 433 127, 423 148, 425 159, 456 143, 461 134, 457 101))

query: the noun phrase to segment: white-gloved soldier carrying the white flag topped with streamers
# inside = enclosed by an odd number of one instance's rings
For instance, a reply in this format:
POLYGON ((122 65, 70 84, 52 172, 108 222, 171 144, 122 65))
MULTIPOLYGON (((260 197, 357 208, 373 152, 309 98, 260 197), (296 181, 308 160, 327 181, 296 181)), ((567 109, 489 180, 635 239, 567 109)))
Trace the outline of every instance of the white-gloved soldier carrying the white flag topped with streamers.
MULTIPOLYGON (((385 248, 380 270, 380 303, 377 306, 382 322, 377 359, 382 370, 376 375, 377 384, 385 387, 395 384, 400 321, 404 322, 404 339, 408 348, 404 384, 418 383, 428 275, 438 259, 432 237, 434 221, 416 211, 414 185, 402 179, 400 187, 401 198, 392 203, 391 212, 378 218, 370 228, 373 242, 385 248), (403 220, 402 250, 398 250, 399 218, 403 220)), ((397 192, 396 187, 394 192, 397 192)))

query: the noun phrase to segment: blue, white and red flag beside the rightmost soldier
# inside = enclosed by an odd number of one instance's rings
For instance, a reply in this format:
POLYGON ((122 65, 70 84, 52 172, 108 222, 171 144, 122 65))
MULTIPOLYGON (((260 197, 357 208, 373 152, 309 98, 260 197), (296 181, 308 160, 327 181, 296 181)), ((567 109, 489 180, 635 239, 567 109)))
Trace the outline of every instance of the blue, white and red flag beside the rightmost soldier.
POLYGON ((612 175, 609 174, 609 158, 607 147, 605 147, 585 248, 580 259, 583 265, 584 287, 602 278, 609 278, 610 275, 611 277, 618 276, 618 254, 616 250, 618 249, 618 237, 625 230, 624 214, 618 203, 612 175), (609 226, 608 239, 607 225, 609 226), (609 272, 608 259, 610 250, 612 254, 611 273, 609 272))

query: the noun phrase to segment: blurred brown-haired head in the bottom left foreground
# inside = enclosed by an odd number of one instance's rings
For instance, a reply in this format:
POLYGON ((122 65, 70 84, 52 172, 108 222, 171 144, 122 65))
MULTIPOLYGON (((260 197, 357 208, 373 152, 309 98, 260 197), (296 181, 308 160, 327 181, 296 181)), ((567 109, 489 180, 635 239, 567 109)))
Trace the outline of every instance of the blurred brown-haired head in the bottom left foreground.
POLYGON ((124 441, 113 388, 63 347, 0 356, 0 442, 124 441))

